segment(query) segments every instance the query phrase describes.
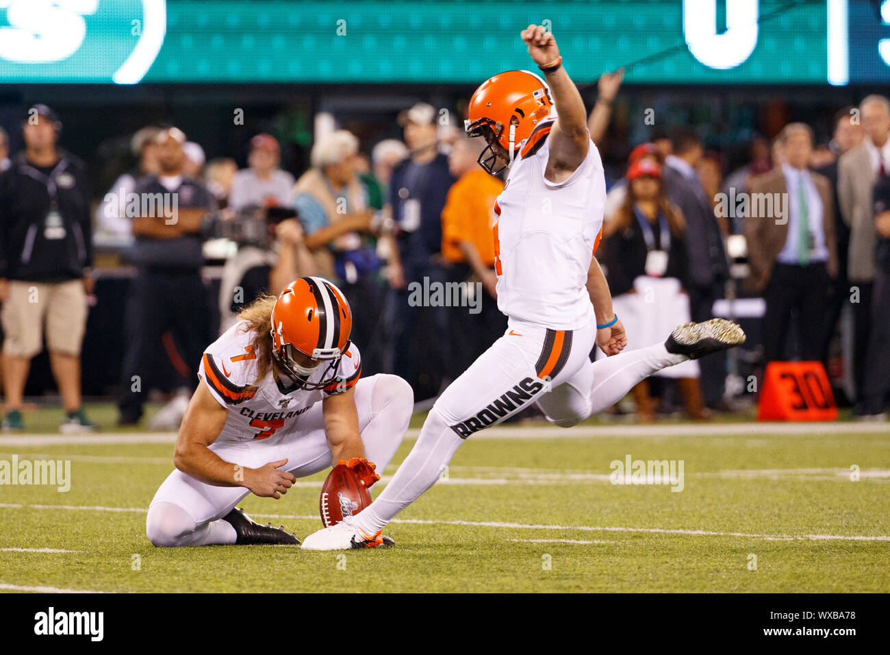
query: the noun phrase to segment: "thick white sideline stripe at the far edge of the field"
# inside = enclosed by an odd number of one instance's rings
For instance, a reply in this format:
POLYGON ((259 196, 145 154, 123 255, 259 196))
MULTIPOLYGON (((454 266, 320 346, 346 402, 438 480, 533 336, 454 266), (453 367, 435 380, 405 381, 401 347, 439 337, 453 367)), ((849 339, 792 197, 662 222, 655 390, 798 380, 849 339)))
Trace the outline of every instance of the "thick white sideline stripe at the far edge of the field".
MULTIPOLYGON (((548 424, 503 426, 473 434, 479 439, 591 438, 591 437, 756 437, 764 434, 786 434, 822 437, 837 434, 890 433, 890 422, 739 422, 739 423, 664 423, 656 425, 580 425, 563 429, 548 424)), ((409 439, 416 439, 420 430, 408 430, 409 439)), ((0 436, 6 446, 94 446, 102 444, 170 444, 175 432, 109 432, 106 434, 63 435, 30 434, 0 436)))

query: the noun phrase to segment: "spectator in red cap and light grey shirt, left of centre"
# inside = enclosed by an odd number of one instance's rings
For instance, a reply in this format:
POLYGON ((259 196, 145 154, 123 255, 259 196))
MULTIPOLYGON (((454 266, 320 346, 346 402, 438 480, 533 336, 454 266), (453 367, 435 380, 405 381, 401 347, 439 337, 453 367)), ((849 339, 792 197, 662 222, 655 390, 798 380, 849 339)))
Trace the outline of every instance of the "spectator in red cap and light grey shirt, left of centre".
POLYGON ((250 140, 247 165, 239 170, 231 184, 229 207, 285 207, 291 199, 294 176, 281 170, 281 147, 271 135, 256 135, 250 140))

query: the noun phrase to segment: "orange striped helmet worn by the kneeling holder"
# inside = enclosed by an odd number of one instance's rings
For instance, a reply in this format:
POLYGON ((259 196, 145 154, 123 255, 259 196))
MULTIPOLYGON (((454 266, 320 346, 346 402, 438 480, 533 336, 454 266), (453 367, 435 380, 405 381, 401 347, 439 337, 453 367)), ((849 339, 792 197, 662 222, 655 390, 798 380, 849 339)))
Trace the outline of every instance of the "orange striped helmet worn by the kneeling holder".
POLYGON ((335 380, 350 332, 352 310, 343 291, 322 277, 301 277, 281 291, 272 308, 272 357, 302 389, 323 389, 335 380), (323 362, 328 369, 322 379, 309 383, 323 362))

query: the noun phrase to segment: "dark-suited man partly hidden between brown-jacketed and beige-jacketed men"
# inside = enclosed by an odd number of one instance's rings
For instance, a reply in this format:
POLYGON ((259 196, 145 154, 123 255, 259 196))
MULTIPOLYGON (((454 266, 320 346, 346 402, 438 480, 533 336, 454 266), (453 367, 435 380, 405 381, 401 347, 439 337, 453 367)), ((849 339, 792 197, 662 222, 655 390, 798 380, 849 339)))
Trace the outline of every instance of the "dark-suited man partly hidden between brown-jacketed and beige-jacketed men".
POLYGON ((835 238, 837 240, 837 277, 831 281, 829 286, 829 307, 825 312, 825 332, 820 357, 823 362, 828 358, 829 341, 834 335, 841 310, 850 302, 850 278, 847 275, 850 260, 850 226, 846 224, 840 209, 837 192, 837 160, 862 143, 862 139, 865 138, 862 124, 858 120, 855 122, 853 120, 854 111, 854 107, 844 107, 835 113, 832 121, 834 133, 831 147, 837 154, 837 159, 816 169, 816 172, 826 176, 831 184, 831 192, 834 196, 835 238))

